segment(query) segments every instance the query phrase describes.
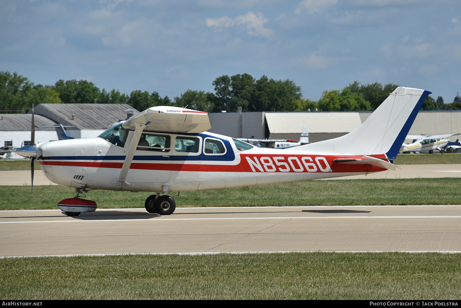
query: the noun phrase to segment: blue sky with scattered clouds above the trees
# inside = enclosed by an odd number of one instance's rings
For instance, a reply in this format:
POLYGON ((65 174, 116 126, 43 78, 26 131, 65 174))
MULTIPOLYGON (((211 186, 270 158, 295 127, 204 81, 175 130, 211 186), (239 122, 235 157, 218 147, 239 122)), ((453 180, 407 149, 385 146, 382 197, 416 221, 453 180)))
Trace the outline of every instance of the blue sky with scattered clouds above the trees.
POLYGON ((0 70, 130 93, 212 91, 221 75, 461 91, 459 0, 0 0, 0 70))

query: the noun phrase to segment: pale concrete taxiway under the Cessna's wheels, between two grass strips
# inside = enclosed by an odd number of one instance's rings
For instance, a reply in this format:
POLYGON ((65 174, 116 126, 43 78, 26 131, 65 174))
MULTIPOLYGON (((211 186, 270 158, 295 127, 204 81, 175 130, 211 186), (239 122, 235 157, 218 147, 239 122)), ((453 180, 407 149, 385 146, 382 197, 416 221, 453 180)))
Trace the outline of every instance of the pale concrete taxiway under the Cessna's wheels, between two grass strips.
POLYGON ((0 211, 0 256, 461 252, 461 205, 0 211))

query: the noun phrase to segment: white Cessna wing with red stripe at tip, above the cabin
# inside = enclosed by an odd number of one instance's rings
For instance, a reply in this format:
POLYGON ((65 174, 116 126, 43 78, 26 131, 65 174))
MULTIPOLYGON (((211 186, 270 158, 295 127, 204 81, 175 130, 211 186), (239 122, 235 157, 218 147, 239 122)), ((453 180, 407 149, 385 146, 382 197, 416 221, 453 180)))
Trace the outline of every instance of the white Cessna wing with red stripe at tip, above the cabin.
POLYGON ((208 114, 203 111, 155 106, 133 115, 122 126, 135 129, 136 124, 143 124, 144 130, 169 133, 203 133, 211 128, 208 114))

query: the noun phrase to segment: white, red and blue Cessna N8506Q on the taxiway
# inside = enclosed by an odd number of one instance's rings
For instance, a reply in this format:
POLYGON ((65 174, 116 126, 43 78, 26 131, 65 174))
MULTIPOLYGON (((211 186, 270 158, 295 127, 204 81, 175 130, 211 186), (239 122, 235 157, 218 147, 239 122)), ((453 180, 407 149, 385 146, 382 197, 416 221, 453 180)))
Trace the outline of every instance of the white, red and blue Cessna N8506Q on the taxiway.
POLYGON ((95 211, 94 201, 79 198, 94 189, 154 192, 146 199, 146 210, 170 215, 176 208, 168 196, 172 191, 395 170, 393 159, 430 93, 398 87, 355 131, 286 150, 258 148, 207 133, 211 128, 207 113, 160 106, 134 115, 94 139, 41 144, 29 157, 36 157, 50 181, 76 187, 76 197, 58 204, 69 216, 95 211))

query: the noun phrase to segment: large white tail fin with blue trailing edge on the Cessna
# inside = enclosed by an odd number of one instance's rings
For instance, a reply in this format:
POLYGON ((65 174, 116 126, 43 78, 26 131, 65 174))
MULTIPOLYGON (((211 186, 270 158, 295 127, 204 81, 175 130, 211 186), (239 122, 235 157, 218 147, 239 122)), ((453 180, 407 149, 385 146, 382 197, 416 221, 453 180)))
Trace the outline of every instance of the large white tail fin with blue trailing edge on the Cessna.
POLYGON ((291 148, 312 153, 396 157, 429 91, 398 87, 347 135, 291 148))

